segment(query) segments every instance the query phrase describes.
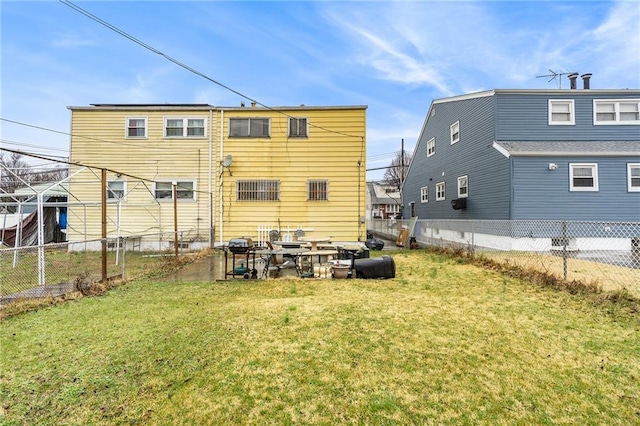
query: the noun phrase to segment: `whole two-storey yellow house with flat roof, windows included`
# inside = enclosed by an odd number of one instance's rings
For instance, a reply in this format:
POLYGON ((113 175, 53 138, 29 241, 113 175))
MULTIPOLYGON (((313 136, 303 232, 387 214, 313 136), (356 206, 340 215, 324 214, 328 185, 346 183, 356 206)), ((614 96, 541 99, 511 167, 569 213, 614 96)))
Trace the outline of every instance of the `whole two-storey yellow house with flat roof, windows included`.
POLYGON ((97 249, 103 220, 149 249, 176 230, 193 249, 274 229, 365 239, 366 106, 69 109, 71 242, 97 249))

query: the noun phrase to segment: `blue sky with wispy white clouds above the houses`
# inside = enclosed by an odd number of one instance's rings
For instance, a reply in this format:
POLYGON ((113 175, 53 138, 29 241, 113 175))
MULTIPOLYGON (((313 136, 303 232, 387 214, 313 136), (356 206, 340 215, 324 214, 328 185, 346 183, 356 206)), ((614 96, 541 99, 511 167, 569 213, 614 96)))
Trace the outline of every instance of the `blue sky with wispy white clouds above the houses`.
POLYGON ((219 84, 62 2, 0 0, 0 148, 68 157, 67 106, 367 105, 381 180, 436 99, 567 89, 552 72, 640 88, 637 0, 73 3, 219 84))

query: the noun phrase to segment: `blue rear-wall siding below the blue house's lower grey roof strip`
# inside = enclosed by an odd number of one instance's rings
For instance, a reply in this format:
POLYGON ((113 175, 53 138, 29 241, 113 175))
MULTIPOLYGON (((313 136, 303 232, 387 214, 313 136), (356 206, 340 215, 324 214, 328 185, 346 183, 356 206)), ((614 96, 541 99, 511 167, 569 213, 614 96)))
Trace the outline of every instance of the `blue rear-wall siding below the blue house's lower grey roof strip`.
POLYGON ((639 157, 514 157, 513 219, 640 221, 640 192, 627 192, 639 157), (557 170, 548 164, 556 163, 557 170), (598 164, 598 192, 569 190, 569 163, 598 164))

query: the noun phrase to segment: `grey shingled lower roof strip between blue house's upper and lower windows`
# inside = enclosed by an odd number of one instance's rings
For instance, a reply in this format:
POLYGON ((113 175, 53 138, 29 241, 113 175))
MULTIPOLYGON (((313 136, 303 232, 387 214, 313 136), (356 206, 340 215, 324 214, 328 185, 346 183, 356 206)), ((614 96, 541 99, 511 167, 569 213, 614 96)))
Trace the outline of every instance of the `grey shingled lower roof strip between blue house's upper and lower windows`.
POLYGON ((504 156, 620 156, 639 155, 640 141, 496 141, 504 156))

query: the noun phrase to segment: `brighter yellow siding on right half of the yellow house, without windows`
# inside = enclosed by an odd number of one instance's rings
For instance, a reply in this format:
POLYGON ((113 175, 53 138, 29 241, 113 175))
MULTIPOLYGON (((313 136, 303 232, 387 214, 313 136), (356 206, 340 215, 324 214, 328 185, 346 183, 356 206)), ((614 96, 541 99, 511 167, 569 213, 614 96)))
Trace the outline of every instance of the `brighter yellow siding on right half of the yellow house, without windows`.
MULTIPOLYGON (((250 113, 270 116, 268 111, 250 113)), ((300 226, 311 230, 307 235, 333 241, 363 240, 365 110, 285 113, 308 118, 308 138, 287 138, 288 117, 282 115, 271 120, 271 138, 225 137, 224 152, 233 155, 233 176, 224 177, 223 238, 255 236, 257 225, 280 225, 291 230, 300 226), (237 201, 240 179, 279 179, 280 201, 237 201), (307 201, 308 179, 328 181, 328 201, 307 201)), ((237 116, 238 111, 225 113, 225 126, 228 118, 237 116)))

